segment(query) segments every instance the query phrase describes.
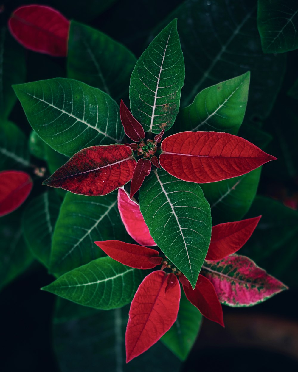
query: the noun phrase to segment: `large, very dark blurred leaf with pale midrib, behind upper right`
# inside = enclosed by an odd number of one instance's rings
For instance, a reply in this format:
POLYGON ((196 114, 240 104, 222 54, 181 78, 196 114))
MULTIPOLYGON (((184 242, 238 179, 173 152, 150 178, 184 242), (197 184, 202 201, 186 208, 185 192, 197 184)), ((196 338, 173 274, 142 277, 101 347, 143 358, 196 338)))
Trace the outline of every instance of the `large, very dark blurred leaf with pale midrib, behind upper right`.
MULTIPOLYGON (((202 89, 251 71, 247 115, 266 117, 285 71, 285 55, 264 55, 251 0, 184 1, 161 27, 178 17, 187 71, 181 105, 202 89)), ((160 29, 160 28, 159 28, 160 29)))

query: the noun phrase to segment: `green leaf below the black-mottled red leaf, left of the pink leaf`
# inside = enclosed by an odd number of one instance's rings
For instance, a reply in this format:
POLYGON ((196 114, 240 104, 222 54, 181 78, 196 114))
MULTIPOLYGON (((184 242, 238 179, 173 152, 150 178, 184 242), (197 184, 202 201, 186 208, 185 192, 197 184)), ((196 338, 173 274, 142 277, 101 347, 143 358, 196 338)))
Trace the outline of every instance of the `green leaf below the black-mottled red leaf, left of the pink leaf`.
POLYGON ((67 193, 53 235, 50 272, 61 275, 105 254, 94 241, 125 240, 117 192, 104 196, 67 193))

